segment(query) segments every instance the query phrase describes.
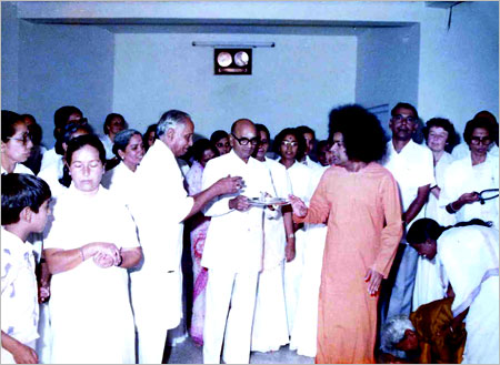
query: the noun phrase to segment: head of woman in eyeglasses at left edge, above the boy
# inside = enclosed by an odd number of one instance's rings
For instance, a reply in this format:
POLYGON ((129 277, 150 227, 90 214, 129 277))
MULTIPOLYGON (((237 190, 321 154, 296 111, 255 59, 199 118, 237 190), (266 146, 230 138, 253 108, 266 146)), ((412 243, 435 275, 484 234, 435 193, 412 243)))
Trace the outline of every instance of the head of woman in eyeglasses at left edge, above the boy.
POLYGON ((32 146, 33 142, 21 115, 2 110, 1 173, 33 175, 29 168, 21 164, 30 156, 32 146))

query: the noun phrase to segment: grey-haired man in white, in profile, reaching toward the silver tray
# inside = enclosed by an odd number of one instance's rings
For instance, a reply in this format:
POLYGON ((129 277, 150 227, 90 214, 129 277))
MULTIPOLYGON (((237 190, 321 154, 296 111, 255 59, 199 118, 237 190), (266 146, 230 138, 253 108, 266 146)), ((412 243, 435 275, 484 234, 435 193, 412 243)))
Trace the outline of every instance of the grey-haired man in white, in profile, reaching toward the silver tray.
POLYGON ((163 113, 157 126, 159 141, 134 174, 129 207, 138 226, 143 263, 130 278, 140 364, 162 362, 167 331, 182 316, 183 221, 213 197, 236 192, 242 184, 240 178, 224 178, 188 196, 176 158, 192 145, 193 132, 189 114, 178 110, 163 113))

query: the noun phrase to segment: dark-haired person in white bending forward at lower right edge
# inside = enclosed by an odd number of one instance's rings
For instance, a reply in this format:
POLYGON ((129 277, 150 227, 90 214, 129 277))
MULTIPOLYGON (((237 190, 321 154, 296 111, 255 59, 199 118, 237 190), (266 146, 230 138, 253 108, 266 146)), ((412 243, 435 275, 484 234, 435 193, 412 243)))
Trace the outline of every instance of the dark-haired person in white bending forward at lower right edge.
POLYGON ((499 361, 499 233, 490 225, 472 220, 443 227, 422 219, 407 234, 419 255, 442 266, 456 295, 453 317, 469 311, 463 364, 499 361))

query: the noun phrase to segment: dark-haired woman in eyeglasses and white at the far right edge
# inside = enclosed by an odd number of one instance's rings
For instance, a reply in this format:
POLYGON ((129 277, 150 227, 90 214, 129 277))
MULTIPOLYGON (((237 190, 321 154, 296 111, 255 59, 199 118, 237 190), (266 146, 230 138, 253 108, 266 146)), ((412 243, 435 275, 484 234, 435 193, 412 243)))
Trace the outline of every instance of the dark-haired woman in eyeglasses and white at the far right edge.
POLYGON ((481 219, 493 222, 498 229, 498 197, 480 202, 478 193, 487 189, 498 189, 499 161, 488 149, 496 131, 486 118, 469 121, 463 131, 463 140, 470 154, 454 161, 444 173, 439 205, 454 216, 457 222, 481 219))

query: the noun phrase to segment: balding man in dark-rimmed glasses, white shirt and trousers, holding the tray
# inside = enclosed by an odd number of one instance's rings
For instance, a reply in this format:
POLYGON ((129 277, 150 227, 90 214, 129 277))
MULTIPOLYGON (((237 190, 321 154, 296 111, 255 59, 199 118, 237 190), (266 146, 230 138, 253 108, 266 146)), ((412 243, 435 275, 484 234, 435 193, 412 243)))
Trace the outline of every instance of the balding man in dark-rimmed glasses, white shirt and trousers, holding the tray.
MULTIPOLYGON (((201 260, 209 270, 203 328, 206 364, 220 363, 222 343, 224 363, 249 363, 266 219, 262 206, 251 205, 249 197, 274 195, 269 170, 251 156, 259 143, 254 124, 248 119, 236 121, 229 142, 231 152, 210 160, 203 171, 203 187, 228 174, 240 175, 246 183, 242 194, 220 196, 204 211, 211 216, 201 260)), ((277 212, 266 209, 266 214, 271 217, 277 212)))

